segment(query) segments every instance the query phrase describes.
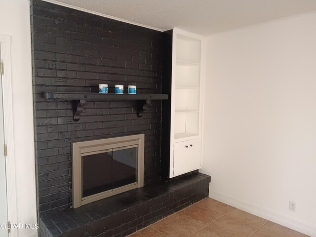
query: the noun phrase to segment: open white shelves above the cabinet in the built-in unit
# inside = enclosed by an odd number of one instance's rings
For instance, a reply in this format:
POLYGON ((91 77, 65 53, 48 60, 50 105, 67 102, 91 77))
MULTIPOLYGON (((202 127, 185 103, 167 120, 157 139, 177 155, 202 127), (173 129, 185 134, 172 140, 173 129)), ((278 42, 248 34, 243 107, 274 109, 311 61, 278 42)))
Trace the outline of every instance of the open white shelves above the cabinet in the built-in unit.
POLYGON ((174 139, 178 140, 199 134, 201 40, 177 30, 173 33, 176 55, 172 74, 175 99, 172 102, 175 104, 174 139))

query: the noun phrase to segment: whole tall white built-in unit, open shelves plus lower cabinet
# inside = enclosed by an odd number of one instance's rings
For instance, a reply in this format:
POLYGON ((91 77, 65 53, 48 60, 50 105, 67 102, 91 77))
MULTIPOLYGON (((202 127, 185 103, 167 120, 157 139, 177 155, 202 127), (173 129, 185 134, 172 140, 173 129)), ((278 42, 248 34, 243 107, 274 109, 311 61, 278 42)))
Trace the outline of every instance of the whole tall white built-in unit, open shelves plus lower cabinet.
POLYGON ((163 132, 166 140, 170 141, 169 151, 164 154, 170 156, 168 177, 172 178, 199 169, 201 165, 205 50, 203 37, 178 28, 167 33, 166 39, 172 40, 169 44, 172 45, 172 59, 169 59, 171 84, 166 82, 166 88, 171 92, 171 101, 170 104, 163 103, 163 111, 170 110, 169 134, 163 132))

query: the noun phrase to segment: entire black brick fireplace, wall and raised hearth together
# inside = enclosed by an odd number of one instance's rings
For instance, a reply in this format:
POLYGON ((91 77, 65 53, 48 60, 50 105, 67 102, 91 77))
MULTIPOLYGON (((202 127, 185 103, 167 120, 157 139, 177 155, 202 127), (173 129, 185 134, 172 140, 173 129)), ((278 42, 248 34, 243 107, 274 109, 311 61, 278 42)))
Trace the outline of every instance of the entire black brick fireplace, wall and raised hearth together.
POLYGON ((164 51, 163 33, 41 0, 32 0, 31 23, 41 236, 80 236, 87 225, 99 231, 90 236, 125 236, 207 196, 210 179, 196 172, 161 183, 160 100, 141 118, 135 101, 86 100, 74 121, 70 100, 43 96, 94 92, 99 83, 110 93, 115 84, 161 93, 163 54, 171 53, 164 51), (135 134, 145 137, 144 188, 72 209, 72 143, 135 134), (111 212, 102 211, 106 203, 111 212))

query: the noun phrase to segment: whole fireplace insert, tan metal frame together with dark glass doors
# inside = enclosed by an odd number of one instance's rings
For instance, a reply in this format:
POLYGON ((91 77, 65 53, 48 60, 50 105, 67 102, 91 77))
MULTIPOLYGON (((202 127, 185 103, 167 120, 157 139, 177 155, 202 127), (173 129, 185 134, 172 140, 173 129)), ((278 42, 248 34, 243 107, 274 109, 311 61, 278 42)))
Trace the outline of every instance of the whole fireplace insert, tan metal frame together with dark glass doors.
POLYGON ((72 144, 73 207, 144 186, 144 134, 72 144))

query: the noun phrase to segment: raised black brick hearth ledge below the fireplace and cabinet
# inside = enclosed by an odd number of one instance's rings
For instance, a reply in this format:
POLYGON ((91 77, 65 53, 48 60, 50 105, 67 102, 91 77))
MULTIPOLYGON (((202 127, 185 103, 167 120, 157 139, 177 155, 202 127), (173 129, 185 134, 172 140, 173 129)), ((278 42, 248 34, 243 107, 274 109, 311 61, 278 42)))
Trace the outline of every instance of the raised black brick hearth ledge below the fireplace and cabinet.
POLYGON ((208 197, 211 177, 193 173, 40 218, 40 237, 124 237, 208 197))

